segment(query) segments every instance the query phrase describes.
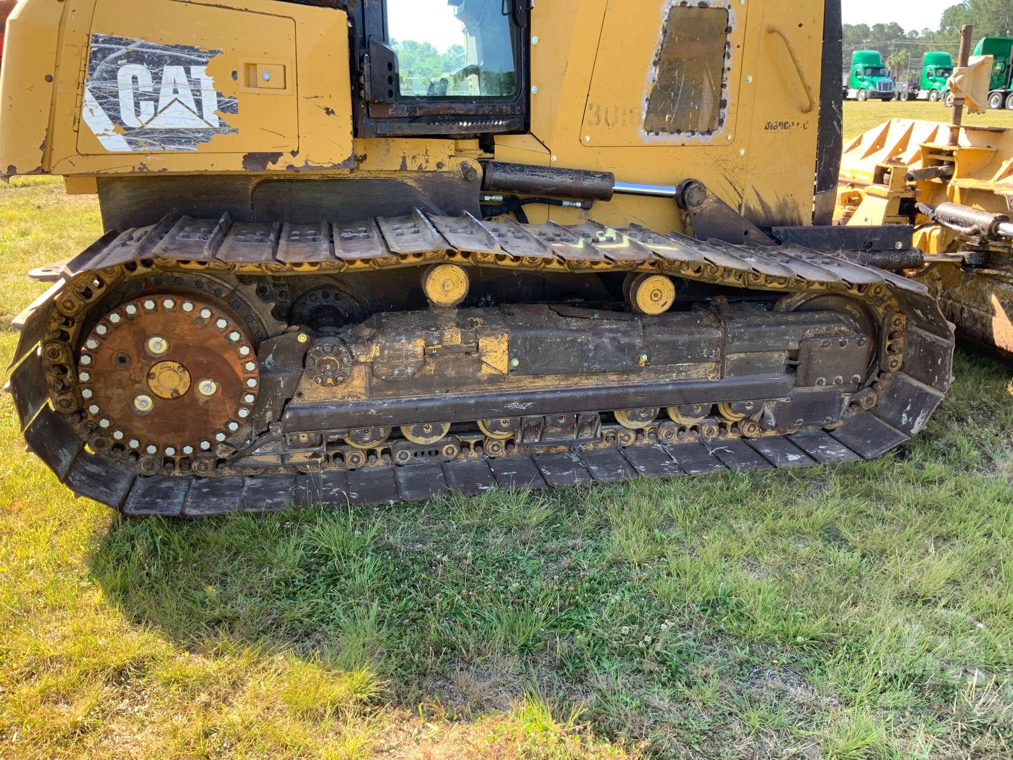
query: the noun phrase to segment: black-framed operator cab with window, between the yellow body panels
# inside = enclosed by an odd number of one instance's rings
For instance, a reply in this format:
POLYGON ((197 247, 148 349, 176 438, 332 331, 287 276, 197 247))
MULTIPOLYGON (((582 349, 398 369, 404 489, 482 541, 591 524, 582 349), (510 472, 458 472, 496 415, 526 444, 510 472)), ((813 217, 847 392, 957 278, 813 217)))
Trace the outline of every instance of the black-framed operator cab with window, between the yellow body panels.
POLYGON ((367 0, 350 9, 357 133, 524 132, 528 0, 367 0))

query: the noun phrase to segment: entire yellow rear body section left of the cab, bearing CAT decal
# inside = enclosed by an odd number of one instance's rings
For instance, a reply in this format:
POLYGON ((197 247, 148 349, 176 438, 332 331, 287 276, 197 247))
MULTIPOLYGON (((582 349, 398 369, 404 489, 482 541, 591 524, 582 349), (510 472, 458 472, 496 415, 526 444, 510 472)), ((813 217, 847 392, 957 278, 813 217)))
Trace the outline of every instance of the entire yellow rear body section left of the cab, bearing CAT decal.
POLYGON ((0 171, 353 165, 341 10, 276 0, 23 0, 10 32, 17 64, 4 66, 0 171))

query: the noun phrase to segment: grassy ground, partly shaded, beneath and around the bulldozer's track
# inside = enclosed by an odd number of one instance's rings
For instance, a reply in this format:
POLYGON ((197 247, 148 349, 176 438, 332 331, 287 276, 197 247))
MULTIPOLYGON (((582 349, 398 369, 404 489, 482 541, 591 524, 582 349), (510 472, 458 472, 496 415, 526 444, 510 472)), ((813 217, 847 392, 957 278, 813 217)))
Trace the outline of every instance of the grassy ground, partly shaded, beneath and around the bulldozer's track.
MULTIPOLYGON (((96 228, 0 185, 4 324, 96 228)), ((877 462, 194 524, 73 500, 4 395, 0 757, 1008 756, 1013 369, 956 374, 877 462)))

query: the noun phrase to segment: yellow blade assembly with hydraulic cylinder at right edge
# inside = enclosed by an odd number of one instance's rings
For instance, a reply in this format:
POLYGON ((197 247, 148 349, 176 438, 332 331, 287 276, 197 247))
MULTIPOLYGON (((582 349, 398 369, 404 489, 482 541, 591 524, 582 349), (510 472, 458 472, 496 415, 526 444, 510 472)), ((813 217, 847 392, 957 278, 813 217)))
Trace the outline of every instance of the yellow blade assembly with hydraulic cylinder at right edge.
MULTIPOLYGON (((987 94, 987 91, 985 91, 987 94)), ((984 99, 984 98, 983 98, 984 99)), ((905 272, 960 337, 1013 358, 1013 130, 894 119, 844 151, 837 221, 910 225, 905 272)))

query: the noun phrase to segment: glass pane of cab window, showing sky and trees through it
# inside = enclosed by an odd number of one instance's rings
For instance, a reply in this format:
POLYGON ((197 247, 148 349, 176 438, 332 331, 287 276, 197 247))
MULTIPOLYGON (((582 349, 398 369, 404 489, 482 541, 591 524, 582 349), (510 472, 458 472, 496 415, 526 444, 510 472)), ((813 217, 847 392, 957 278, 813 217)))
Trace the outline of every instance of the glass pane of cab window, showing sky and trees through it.
POLYGON ((387 0, 402 98, 513 98, 518 35, 503 0, 387 0))

